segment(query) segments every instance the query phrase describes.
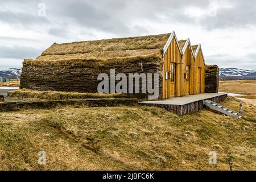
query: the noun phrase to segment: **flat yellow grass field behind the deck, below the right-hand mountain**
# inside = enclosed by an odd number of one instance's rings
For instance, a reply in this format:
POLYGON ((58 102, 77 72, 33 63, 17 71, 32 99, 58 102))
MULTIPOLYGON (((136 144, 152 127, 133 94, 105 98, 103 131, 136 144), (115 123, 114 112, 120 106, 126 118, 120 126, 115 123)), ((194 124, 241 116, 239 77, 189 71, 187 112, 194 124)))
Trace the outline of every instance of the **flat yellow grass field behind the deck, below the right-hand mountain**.
POLYGON ((221 80, 219 92, 245 94, 239 97, 256 99, 256 80, 221 80))

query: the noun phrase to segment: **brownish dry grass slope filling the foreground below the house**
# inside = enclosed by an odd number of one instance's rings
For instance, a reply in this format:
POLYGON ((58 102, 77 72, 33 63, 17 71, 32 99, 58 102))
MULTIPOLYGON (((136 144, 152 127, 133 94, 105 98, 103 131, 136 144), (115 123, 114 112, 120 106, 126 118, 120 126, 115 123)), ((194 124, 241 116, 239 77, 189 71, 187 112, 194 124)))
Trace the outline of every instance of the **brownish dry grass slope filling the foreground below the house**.
MULTIPOLYGON (((239 101, 224 105, 238 110, 239 101)), ((201 110, 177 116, 157 107, 63 107, 0 113, 3 170, 234 170, 256 168, 256 104, 246 119, 201 110), (46 151, 46 166, 38 152, 46 151), (217 166, 208 164, 217 152, 217 166)))

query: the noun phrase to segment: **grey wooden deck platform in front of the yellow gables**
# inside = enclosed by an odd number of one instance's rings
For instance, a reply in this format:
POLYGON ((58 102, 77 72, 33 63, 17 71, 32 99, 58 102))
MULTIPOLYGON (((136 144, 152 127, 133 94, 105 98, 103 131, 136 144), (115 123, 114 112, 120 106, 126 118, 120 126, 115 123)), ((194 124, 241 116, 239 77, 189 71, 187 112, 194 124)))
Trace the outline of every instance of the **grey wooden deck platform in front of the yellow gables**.
POLYGON ((225 93, 201 93, 191 96, 174 97, 160 101, 143 101, 139 105, 162 107, 176 114, 187 114, 199 111, 204 107, 204 101, 210 100, 214 102, 224 101, 228 97, 225 93))

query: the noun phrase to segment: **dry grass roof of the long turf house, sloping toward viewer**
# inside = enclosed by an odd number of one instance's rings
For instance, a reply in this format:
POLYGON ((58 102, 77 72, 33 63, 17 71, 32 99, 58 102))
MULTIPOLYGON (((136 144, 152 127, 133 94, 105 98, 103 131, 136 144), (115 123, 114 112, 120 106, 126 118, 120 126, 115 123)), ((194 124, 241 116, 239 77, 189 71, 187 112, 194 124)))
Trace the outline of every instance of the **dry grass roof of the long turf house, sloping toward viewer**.
POLYGON ((36 60, 110 59, 152 54, 160 56, 170 35, 149 35, 64 44, 54 43, 36 60))

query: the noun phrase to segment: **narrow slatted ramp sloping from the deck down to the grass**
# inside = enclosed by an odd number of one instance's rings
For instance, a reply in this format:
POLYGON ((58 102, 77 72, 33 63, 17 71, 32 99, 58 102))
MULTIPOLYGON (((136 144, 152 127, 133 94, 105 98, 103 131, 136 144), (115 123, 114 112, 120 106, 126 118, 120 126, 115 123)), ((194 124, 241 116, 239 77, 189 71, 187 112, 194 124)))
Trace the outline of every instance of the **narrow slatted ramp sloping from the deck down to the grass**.
POLYGON ((217 110, 223 114, 229 115, 230 117, 236 117, 236 118, 243 117, 243 114, 238 113, 232 109, 228 109, 225 106, 222 106, 222 105, 217 104, 216 102, 213 102, 210 100, 204 101, 204 105, 209 107, 210 109, 217 110))

